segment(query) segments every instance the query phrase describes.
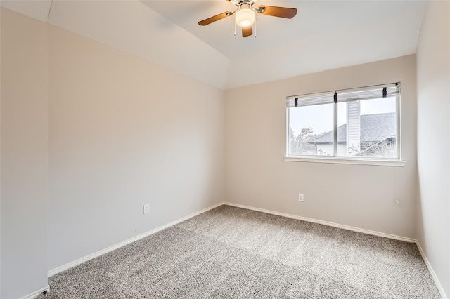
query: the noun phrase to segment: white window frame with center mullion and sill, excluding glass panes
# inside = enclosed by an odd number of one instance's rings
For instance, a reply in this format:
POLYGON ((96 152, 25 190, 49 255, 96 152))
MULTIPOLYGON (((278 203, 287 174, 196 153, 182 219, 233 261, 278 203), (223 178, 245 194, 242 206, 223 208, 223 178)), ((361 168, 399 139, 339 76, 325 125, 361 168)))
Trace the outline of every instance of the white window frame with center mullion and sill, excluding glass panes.
MULTIPOLYGON (((381 98, 381 97, 380 97, 381 98)), ((361 98, 361 100, 364 100, 361 98)), ((349 101, 349 100, 345 100, 349 101)), ((325 101, 324 101, 325 102, 325 101)), ((364 86, 360 88, 351 88, 351 89, 342 89, 337 91, 330 91, 326 93, 312 93, 307 95, 291 95, 286 97, 286 152, 285 157, 283 157, 284 161, 294 161, 294 162, 309 162, 309 163, 331 163, 331 164, 361 164, 361 165, 374 165, 374 166, 405 166, 406 161, 402 161, 401 159, 401 94, 400 94, 400 83, 394 84, 382 84, 375 86, 364 86), (397 157, 348 157, 348 156, 338 156, 338 142, 337 138, 337 128, 338 128, 338 102, 334 101, 334 115, 333 115, 333 129, 335 134, 334 140, 334 156, 315 156, 315 155, 291 155, 289 154, 289 109, 293 107, 292 102, 295 100, 303 100, 303 106, 306 105, 320 105, 320 99, 323 98, 323 95, 326 95, 329 102, 329 96, 331 94, 349 94, 349 93, 358 93, 361 91, 370 91, 371 89, 383 89, 384 87, 391 88, 395 87, 396 89, 396 119, 397 119, 397 135, 396 135, 396 146, 397 146, 397 157), (319 98, 319 102, 318 99, 319 98), (312 99, 312 100, 311 100, 312 99), (308 103, 307 103, 308 102, 308 103), (312 104, 311 104, 312 102, 312 104), (307 104, 305 104, 307 103, 307 104)))

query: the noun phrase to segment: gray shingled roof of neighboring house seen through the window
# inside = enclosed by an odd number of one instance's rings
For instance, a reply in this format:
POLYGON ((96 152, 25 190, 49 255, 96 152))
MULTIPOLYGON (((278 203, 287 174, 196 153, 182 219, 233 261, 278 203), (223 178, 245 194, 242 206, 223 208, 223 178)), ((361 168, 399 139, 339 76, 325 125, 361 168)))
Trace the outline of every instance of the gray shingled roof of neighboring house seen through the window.
MULTIPOLYGON (((379 142, 395 138, 397 119, 395 113, 361 115, 361 142, 379 142)), ((347 124, 338 127, 338 142, 347 141, 347 124)), ((309 141, 309 143, 333 143, 333 131, 309 141)))

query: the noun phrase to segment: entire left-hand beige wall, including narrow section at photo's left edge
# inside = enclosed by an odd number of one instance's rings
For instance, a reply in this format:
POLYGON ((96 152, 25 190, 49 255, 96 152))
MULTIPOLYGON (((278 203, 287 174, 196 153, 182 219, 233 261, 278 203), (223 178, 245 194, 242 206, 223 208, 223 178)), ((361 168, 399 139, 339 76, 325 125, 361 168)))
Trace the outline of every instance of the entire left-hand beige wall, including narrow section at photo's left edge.
POLYGON ((223 91, 4 8, 1 45, 1 298, 224 201, 223 91))

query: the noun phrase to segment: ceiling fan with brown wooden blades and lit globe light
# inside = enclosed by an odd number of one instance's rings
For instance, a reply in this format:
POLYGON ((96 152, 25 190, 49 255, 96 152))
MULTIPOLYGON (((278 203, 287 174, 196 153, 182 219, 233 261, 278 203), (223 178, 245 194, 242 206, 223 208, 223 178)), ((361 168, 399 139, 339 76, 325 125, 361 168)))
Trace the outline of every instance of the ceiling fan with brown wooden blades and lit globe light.
POLYGON ((205 26, 212 22, 216 22, 223 18, 229 17, 231 15, 236 15, 236 24, 242 28, 242 37, 248 37, 253 34, 252 25, 255 22, 256 13, 261 13, 262 15, 272 15, 274 17, 292 19, 297 15, 297 8, 288 7, 278 7, 278 6, 266 6, 260 5, 258 7, 253 7, 256 0, 226 0, 232 4, 238 6, 236 11, 226 11, 224 13, 219 13, 219 15, 214 15, 211 18, 207 18, 203 21, 198 22, 198 25, 205 26))

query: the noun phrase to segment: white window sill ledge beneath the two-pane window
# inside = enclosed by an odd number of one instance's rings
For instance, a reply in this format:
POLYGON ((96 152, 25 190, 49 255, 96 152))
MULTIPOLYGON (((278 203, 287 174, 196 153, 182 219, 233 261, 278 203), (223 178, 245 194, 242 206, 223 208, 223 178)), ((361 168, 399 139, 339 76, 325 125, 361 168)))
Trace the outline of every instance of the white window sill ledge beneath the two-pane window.
POLYGON ((283 157, 289 162, 309 162, 309 163, 329 163, 329 164, 356 164, 373 166, 396 166, 404 167, 406 161, 398 160, 366 160, 366 159, 345 159, 345 158, 323 158, 323 157, 283 157))

